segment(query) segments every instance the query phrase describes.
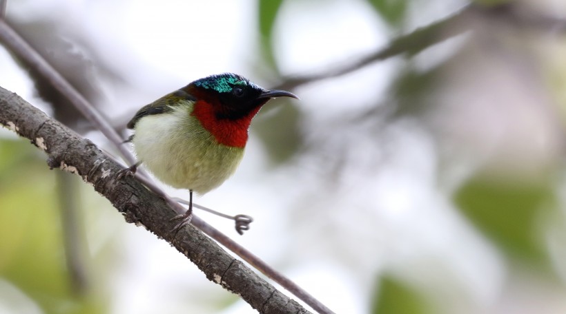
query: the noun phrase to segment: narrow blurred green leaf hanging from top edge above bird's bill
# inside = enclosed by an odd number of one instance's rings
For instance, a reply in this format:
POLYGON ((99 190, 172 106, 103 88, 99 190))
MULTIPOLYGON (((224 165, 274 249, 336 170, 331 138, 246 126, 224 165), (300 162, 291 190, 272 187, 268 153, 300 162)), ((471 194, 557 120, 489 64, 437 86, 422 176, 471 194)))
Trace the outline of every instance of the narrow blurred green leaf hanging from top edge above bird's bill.
MULTIPOLYGON (((273 25, 277 18, 277 12, 281 7, 283 0, 260 0, 257 9, 257 19, 260 25, 260 41, 262 52, 269 65, 277 70, 275 55, 273 54, 273 25)), ((278 71, 277 71, 278 72, 278 71)))

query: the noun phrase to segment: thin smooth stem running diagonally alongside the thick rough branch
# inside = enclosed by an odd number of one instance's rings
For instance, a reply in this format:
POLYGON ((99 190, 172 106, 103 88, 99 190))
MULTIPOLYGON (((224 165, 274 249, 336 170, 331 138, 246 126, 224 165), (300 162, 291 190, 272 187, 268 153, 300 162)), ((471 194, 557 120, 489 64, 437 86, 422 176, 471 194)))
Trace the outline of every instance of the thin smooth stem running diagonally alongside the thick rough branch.
MULTIPOLYGON (((117 147, 117 149, 119 149, 122 156, 126 158, 127 162, 130 163, 130 165, 133 165, 135 163, 135 158, 126 148, 126 146, 122 145, 122 138, 120 138, 117 132, 115 132, 115 129, 111 127, 111 125, 108 123, 108 120, 102 114, 100 114, 97 109, 95 109, 95 107, 90 105, 90 103, 86 101, 86 98, 84 98, 79 92, 77 92, 75 87, 72 87, 72 85, 70 85, 68 81, 66 81, 64 77, 59 74, 59 72, 57 72, 45 59, 43 59, 43 57, 39 55, 37 51, 35 51, 30 45, 28 45, 28 43, 26 43, 26 41, 24 41, 21 36, 17 34, 17 32, 14 32, 14 30, 10 28, 10 25, 8 25, 2 19, 0 19, 0 42, 4 43, 11 52, 19 56, 19 58, 25 60, 26 63, 28 63, 30 66, 35 67, 35 70, 37 70, 37 72, 45 76, 45 78, 50 81, 53 87, 59 90, 61 94, 64 94, 66 98, 68 98, 68 100, 73 105, 75 105, 75 107, 77 107, 77 109, 79 109, 79 111, 84 114, 84 116, 86 116, 86 118, 88 118, 88 120, 93 125, 95 125, 102 132, 102 134, 104 134, 104 136, 106 136, 106 138, 110 140, 110 142, 115 145, 115 147, 117 147)), ((106 157, 105 160, 110 162, 111 158, 106 157)), ((146 186, 150 187, 150 189, 154 193, 156 193, 157 196, 162 197, 170 207, 177 211, 177 213, 184 213, 184 211, 186 211, 186 209, 184 209, 181 205, 171 200, 171 198, 169 198, 163 191, 153 185, 152 182, 147 179, 147 176, 143 176, 143 169, 139 169, 138 172, 141 172, 142 176, 137 176, 137 178, 143 180, 146 186)), ((195 205, 195 207, 200 206, 195 205)), ((127 217, 126 220, 128 220, 127 217)), ((131 221, 135 222, 137 220, 131 221)), ((257 256, 253 255, 253 253, 244 249, 244 247, 240 246, 239 244, 231 240, 231 238, 228 238, 228 236, 224 235, 211 225, 204 222, 204 220, 201 220, 198 217, 194 216, 191 224, 202 230, 214 240, 217 240, 219 243, 224 245, 224 247, 226 247, 236 255, 240 256, 240 258, 251 264, 253 267, 255 267, 255 269, 261 271, 262 273, 264 273, 264 275, 282 285, 287 291, 293 293, 293 295, 297 296, 300 300, 303 300, 306 304, 309 304, 309 306, 312 306, 316 311, 320 313, 332 313, 329 308, 324 306, 324 304, 318 302, 318 300, 304 291, 304 289, 302 289, 300 286, 297 286, 297 284, 295 284, 288 278, 285 278, 282 274, 278 273, 277 271, 275 271, 275 269, 269 266, 269 264, 266 264, 264 261, 260 260, 260 258, 257 258, 257 256)), ((191 226, 191 229, 193 228, 193 226, 191 226)), ((188 237, 187 233, 185 232, 179 232, 178 235, 182 236, 183 238, 188 237)), ((177 238, 179 237, 177 236, 177 238)), ((193 262, 195 262, 195 260, 193 260, 193 262)), ((225 287, 228 288, 227 286, 225 287)), ((238 293, 242 295, 241 291, 238 291, 238 293)), ((246 300, 246 298, 244 298, 244 300, 246 300)))

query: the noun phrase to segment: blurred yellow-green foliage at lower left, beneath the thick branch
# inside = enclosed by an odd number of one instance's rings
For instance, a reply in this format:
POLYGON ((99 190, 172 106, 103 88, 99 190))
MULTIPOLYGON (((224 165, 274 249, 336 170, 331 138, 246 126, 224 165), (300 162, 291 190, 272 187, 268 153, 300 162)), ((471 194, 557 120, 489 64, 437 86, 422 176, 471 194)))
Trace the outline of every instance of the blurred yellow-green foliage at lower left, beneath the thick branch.
POLYGON ((104 312, 70 286, 57 185, 41 155, 28 141, 0 140, 0 276, 45 313, 104 312))

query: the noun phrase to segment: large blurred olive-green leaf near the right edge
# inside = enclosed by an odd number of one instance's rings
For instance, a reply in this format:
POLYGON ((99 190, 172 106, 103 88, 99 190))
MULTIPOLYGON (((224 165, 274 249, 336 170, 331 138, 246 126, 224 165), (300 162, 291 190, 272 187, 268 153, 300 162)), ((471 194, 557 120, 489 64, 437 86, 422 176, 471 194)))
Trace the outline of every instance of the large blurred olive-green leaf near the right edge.
POLYGON ((478 176, 456 193, 456 204, 512 260, 547 267, 540 218, 556 208, 552 185, 478 176))

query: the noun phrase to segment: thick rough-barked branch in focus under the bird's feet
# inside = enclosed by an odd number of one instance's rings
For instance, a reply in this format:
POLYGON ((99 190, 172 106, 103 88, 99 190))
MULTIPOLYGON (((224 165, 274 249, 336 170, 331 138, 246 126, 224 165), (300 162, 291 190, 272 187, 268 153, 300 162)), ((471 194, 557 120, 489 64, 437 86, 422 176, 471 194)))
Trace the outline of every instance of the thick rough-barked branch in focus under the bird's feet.
MULTIPOLYGON (((30 139, 45 151, 49 167, 81 176, 110 200, 124 215, 126 222, 142 224, 157 237, 169 242, 195 263, 208 280, 237 293, 260 313, 309 313, 191 224, 176 236, 171 233, 175 227, 175 221, 171 219, 177 212, 139 181, 128 177, 116 180, 121 167, 90 140, 81 138, 2 87, 0 107, 0 124, 30 139)), ((318 311, 331 313, 327 308, 318 311)))

